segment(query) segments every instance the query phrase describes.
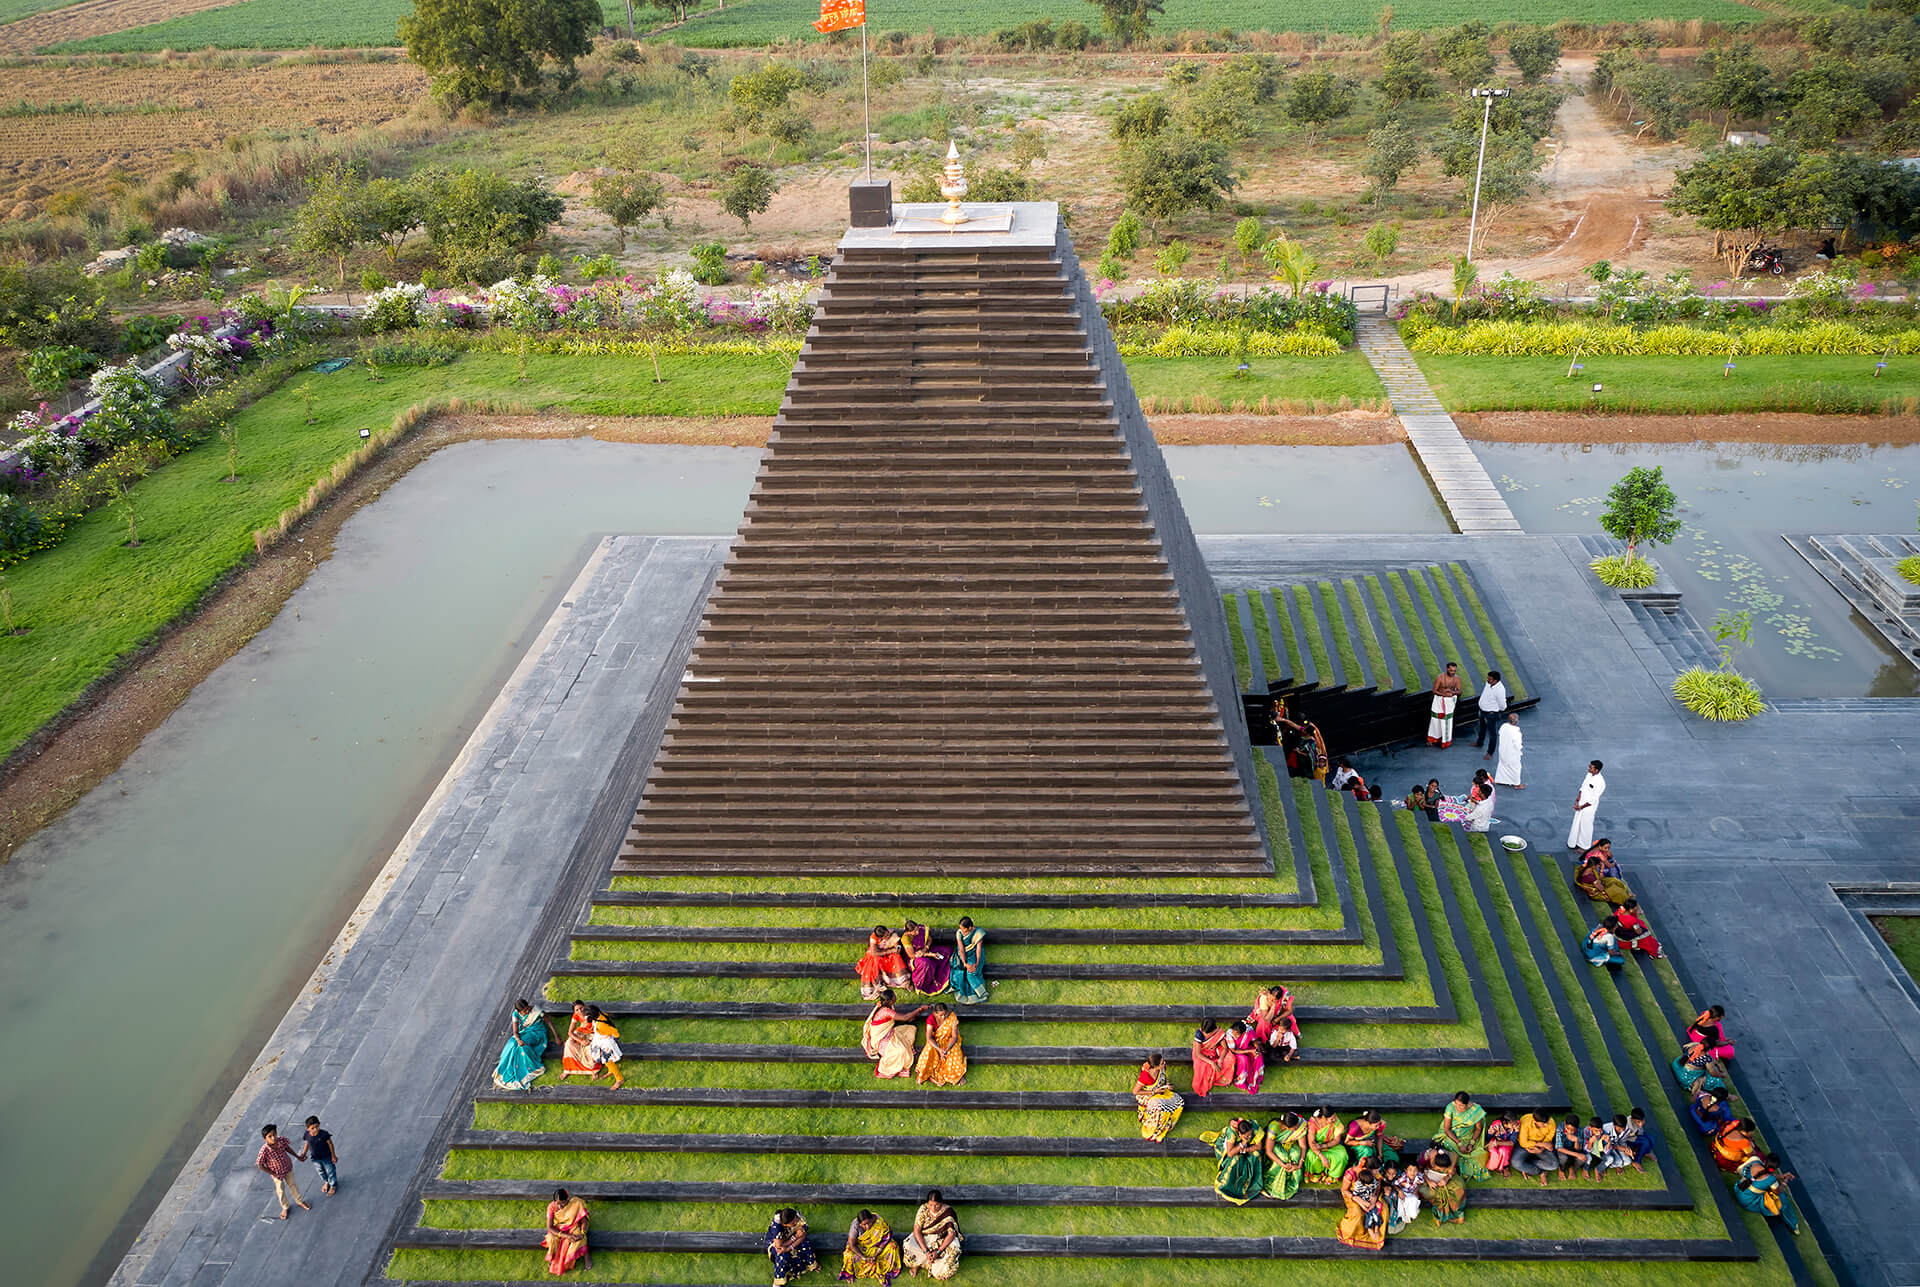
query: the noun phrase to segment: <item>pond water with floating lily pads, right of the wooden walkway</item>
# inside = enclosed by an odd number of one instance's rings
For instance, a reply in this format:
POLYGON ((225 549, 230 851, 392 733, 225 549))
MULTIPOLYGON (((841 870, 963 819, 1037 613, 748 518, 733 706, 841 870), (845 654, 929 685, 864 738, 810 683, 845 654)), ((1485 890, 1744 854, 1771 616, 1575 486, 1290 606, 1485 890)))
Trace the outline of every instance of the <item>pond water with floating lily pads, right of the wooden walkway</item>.
POLYGON ((1528 532, 1597 532, 1607 488, 1659 465, 1686 528, 1655 551, 1711 634, 1720 609, 1753 613, 1734 665, 1774 697, 1910 697, 1920 670, 1864 622, 1782 532, 1910 532, 1920 446, 1475 442, 1528 532))

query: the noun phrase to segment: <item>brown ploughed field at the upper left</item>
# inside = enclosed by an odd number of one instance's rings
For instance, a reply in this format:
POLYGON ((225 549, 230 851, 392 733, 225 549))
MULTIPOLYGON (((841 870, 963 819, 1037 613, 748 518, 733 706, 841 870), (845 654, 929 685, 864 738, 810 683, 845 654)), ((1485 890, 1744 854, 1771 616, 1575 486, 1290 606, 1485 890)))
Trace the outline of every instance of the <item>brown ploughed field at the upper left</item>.
POLYGON ((323 136, 392 121, 424 92, 426 77, 403 60, 12 67, 0 213, 33 217, 54 194, 104 194, 267 119, 323 136))

